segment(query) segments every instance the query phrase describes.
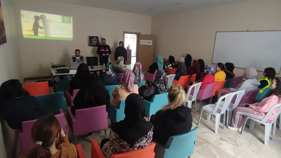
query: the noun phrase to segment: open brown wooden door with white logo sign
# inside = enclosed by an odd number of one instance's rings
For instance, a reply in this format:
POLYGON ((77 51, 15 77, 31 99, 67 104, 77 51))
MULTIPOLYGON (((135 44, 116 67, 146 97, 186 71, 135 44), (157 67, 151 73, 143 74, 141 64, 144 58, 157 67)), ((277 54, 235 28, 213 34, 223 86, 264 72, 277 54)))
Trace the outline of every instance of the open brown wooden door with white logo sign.
POLYGON ((147 71, 153 63, 154 35, 139 35, 138 44, 137 62, 142 64, 142 71, 147 71))

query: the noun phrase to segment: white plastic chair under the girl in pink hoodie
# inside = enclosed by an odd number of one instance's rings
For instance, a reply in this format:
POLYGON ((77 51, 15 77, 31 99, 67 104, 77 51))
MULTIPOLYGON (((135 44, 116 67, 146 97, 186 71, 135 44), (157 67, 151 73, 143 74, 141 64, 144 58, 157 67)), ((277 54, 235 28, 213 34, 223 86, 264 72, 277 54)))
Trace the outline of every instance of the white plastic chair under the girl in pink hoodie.
POLYGON ((264 116, 264 118, 263 118, 262 120, 257 120, 257 119, 255 119, 255 118, 250 117, 250 116, 246 116, 245 119, 244 119, 243 125, 242 125, 241 134, 242 134, 242 132, 243 132, 243 130, 244 130, 244 128, 245 128, 245 125, 246 125, 246 122, 247 122, 248 119, 251 119, 250 127, 249 127, 250 130, 252 130, 252 129, 254 128, 255 122, 264 124, 264 125, 265 125, 265 131, 264 131, 264 145, 268 145, 268 141, 269 141, 269 137, 270 137, 270 132, 271 132, 272 124, 273 124, 272 140, 274 140, 274 137, 275 137, 276 122, 277 122, 278 116, 279 116, 280 113, 281 113, 281 108, 280 108, 280 106, 281 106, 281 103, 273 105, 273 106, 269 109, 269 111, 267 112, 267 114, 264 116), (269 116, 271 115, 271 113, 272 113, 276 108, 279 108, 278 111, 277 111, 276 116, 273 118, 273 120, 272 120, 271 122, 267 122, 269 116))

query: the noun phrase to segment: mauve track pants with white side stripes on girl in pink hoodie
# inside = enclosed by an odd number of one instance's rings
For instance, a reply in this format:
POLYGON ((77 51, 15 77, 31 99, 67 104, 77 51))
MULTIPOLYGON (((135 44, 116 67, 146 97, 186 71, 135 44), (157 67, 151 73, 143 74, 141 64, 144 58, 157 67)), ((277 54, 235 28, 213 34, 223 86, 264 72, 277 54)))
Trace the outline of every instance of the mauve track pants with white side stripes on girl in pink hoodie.
POLYGON ((246 104, 241 104, 238 107, 236 107, 233 111, 232 115, 232 127, 240 128, 241 123, 243 122, 243 119, 245 116, 253 117, 257 120, 262 120, 264 117, 260 114, 260 112, 255 111, 249 107, 245 107, 246 104))

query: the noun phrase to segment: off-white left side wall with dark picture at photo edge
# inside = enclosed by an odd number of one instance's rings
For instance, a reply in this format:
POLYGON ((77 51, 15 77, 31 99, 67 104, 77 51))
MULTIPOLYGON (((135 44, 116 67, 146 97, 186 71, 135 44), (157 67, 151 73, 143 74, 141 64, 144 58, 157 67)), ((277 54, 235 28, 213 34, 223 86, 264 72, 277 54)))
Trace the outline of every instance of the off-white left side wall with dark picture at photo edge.
MULTIPOLYGON (((0 84, 9 79, 23 81, 21 55, 17 41, 17 28, 13 1, 1 0, 7 43, 0 45, 0 84)), ((0 125, 0 157, 11 157, 15 131, 5 125, 0 125), (3 130, 2 130, 3 129, 3 130), (3 133, 3 134, 2 134, 3 133), (2 137, 3 135, 3 137, 2 137), (3 140, 4 138, 4 140, 3 140), (5 141, 5 146, 4 146, 5 141), (6 156, 6 151, 7 156, 6 156)))

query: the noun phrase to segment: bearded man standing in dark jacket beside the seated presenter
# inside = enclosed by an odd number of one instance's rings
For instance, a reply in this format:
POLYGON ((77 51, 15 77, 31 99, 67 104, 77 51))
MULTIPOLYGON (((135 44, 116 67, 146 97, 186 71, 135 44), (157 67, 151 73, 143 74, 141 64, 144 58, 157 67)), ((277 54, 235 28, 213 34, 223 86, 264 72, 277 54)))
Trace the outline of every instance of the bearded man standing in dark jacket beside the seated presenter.
POLYGON ((106 39, 103 38, 102 44, 99 45, 97 53, 99 54, 99 65, 105 65, 108 63, 109 55, 111 54, 111 50, 109 45, 106 44, 106 39))

